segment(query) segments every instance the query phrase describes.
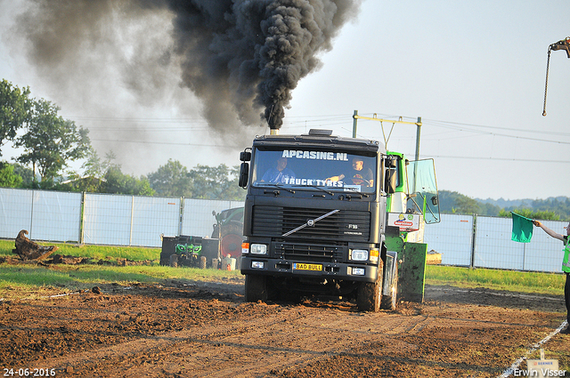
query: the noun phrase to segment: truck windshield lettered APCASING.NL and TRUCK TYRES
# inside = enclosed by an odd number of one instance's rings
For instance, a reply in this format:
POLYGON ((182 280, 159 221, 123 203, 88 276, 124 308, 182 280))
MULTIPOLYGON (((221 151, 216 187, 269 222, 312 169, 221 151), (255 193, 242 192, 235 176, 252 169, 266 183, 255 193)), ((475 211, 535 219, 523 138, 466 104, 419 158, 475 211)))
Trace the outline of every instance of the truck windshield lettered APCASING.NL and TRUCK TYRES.
POLYGON ((327 189, 373 193, 376 157, 326 149, 256 149, 254 187, 327 189))

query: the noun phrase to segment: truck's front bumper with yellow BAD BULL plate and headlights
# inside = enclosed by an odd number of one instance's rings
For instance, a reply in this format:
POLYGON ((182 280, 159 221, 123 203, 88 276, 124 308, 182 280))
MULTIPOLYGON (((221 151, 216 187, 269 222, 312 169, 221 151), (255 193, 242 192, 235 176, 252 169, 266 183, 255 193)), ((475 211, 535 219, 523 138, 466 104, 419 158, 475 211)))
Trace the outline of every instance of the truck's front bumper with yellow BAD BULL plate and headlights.
POLYGON ((293 261, 244 255, 241 256, 241 274, 375 282, 378 277, 378 266, 362 263, 293 261))

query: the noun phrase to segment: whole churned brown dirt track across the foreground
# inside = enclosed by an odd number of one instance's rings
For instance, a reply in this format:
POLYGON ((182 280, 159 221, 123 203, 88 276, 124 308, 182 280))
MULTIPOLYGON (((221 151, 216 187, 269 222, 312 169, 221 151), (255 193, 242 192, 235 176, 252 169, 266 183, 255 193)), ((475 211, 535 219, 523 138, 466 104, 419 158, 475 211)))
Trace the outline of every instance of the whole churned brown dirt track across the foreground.
MULTIPOLYGON (((443 290, 428 290, 428 300, 424 304, 403 302, 395 312, 361 313, 354 311, 354 306, 347 303, 330 305, 330 302, 305 302, 298 306, 248 303, 247 310, 233 311, 242 305, 234 307, 237 302, 218 302, 218 297, 208 302, 211 295, 193 288, 188 293, 182 289, 165 290, 160 289, 151 296, 141 290, 144 293, 142 299, 132 294, 124 298, 125 302, 118 295, 115 299, 110 296, 112 301, 107 298, 99 303, 94 301, 99 297, 89 294, 80 303, 69 302, 67 312, 61 303, 56 317, 53 315, 52 304, 45 316, 50 319, 50 325, 55 327, 62 320, 64 324, 77 322, 77 317, 70 315, 71 311, 80 309, 76 305, 86 305, 91 309, 89 311, 95 311, 95 318, 79 312, 78 321, 81 325, 67 325, 75 336, 92 331, 101 335, 109 331, 116 332, 116 328, 105 326, 110 321, 117 322, 118 326, 133 325, 128 328, 131 329, 130 332, 140 333, 130 336, 128 342, 103 347, 93 342, 85 344, 85 348, 79 344, 75 351, 68 350, 62 357, 40 357, 36 362, 23 367, 55 368, 57 376, 74 377, 289 376, 288 372, 301 372, 299 376, 314 376, 314 371, 311 370, 314 367, 311 366, 323 366, 331 361, 333 364, 337 361, 338 364, 338 361, 346 358, 356 361, 350 366, 371 364, 371 367, 378 368, 377 363, 380 361, 385 366, 400 364, 398 368, 423 366, 422 368, 436 369, 438 365, 433 365, 431 353, 436 350, 435 345, 439 345, 444 350, 451 348, 447 352, 449 356, 445 357, 449 359, 447 369, 450 371, 474 370, 488 373, 493 367, 487 366, 486 362, 457 365, 458 356, 465 355, 465 360, 468 361, 469 358, 478 358, 480 353, 491 353, 487 351, 489 349, 497 353, 495 350, 510 348, 510 342, 505 342, 503 335, 508 334, 509 340, 515 340, 520 337, 514 337, 513 334, 518 335, 517 332, 522 332, 522 329, 526 334, 529 326, 543 327, 550 324, 550 317, 541 316, 535 320, 529 317, 536 314, 525 309, 533 308, 538 303, 548 305, 550 309, 551 302, 555 302, 540 301, 540 297, 535 296, 533 302, 525 302, 521 308, 521 298, 511 300, 512 296, 509 295, 485 295, 485 290, 465 291, 446 287, 443 290), (168 293, 171 296, 166 300, 148 301, 154 295, 161 297, 168 293), (199 298, 199 301, 195 298, 199 298), (450 299, 452 303, 449 302, 450 299), (475 304, 489 303, 493 299, 497 300, 496 304, 501 309, 495 310, 489 304, 475 304), (458 300, 464 303, 453 304, 458 300), (187 304, 189 302, 190 306, 187 304), (516 306, 502 308, 507 304, 505 302, 516 306), (193 312, 196 309, 200 309, 199 312, 193 312), (179 310, 182 311, 182 316, 175 317, 177 312, 173 311, 179 310), (134 312, 142 314, 140 328, 136 326, 139 318, 138 315, 133 316, 134 312), (225 313, 234 315, 230 315, 230 318, 216 318, 217 314, 225 313), (118 318, 111 317, 114 314, 118 318), (188 318, 189 314, 200 314, 200 317, 194 323, 193 318, 188 318), (99 318, 102 318, 105 327, 87 327, 86 323, 82 326, 84 321, 98 321, 99 318), (156 328, 144 326, 154 326, 166 319, 171 320, 166 325, 169 328, 162 327, 161 331, 177 331, 153 334, 156 328), (493 346, 496 342, 500 344, 497 347, 493 346), (456 345, 458 343, 465 343, 466 347, 456 345)), ((37 313, 41 306, 37 304, 33 310, 18 310, 37 313)), ((37 325, 11 327, 29 331, 37 325)), ((36 331, 39 332, 40 329, 37 328, 36 331)), ((502 351, 499 352, 501 353, 502 351)), ((52 352, 50 355, 55 354, 52 352)), ((491 355, 491 358, 499 362, 501 367, 508 365, 505 361, 499 361, 499 355, 491 355)), ((338 372, 345 369, 340 365, 337 368, 340 369, 338 372)))

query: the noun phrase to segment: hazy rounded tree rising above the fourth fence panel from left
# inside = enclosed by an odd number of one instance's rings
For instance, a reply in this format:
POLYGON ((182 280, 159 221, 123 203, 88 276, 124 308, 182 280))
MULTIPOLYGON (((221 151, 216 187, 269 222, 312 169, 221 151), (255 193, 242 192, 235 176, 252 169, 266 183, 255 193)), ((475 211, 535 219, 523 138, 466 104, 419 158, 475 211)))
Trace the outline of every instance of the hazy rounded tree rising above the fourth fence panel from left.
POLYGON ((148 176, 151 188, 157 195, 163 197, 191 197, 192 180, 188 169, 178 160, 168 159, 166 165, 160 165, 159 170, 148 176))

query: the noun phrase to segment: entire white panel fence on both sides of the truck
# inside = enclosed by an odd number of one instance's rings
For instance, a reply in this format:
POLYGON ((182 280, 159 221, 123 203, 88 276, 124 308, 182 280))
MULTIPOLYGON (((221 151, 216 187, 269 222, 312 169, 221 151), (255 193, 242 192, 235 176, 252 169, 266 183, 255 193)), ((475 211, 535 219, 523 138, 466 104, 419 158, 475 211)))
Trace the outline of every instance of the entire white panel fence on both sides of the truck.
MULTIPOLYGON (((85 193, 83 242, 94 245, 158 247, 160 234, 209 237, 219 213, 242 207, 242 201, 138 197, 85 193)), ((79 241, 80 193, 0 188, 0 237, 13 239, 28 229, 31 239, 79 241)), ((566 235, 566 221, 543 221, 566 235)), ((493 269, 559 272, 564 245, 542 229, 533 229, 531 243, 510 240, 510 218, 476 218, 475 251, 473 216, 442 214, 441 223, 426 226, 428 250, 442 253, 446 265, 493 269)))

